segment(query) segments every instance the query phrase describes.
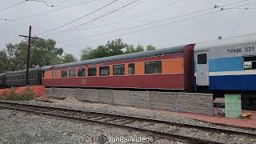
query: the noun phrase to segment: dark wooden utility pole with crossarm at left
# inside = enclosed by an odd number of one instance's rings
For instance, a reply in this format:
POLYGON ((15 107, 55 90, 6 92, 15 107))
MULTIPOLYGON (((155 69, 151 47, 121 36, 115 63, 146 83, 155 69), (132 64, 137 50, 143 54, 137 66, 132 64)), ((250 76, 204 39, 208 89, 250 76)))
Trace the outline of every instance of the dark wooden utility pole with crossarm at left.
POLYGON ((30 47, 31 47, 31 38, 37 38, 37 37, 31 37, 31 26, 30 26, 30 32, 29 36, 27 35, 19 35, 20 37, 29 38, 29 42, 27 43, 27 54, 26 54, 26 86, 30 85, 29 82, 29 71, 30 71, 30 47))

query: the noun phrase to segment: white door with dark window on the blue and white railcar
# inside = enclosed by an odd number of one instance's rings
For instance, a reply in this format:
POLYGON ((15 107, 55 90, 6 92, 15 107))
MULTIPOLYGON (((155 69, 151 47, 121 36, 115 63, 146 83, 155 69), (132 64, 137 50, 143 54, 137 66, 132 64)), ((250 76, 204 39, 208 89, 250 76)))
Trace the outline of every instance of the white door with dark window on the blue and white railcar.
POLYGON ((208 54, 207 52, 198 52, 196 54, 196 78, 197 86, 209 86, 208 73, 208 54))

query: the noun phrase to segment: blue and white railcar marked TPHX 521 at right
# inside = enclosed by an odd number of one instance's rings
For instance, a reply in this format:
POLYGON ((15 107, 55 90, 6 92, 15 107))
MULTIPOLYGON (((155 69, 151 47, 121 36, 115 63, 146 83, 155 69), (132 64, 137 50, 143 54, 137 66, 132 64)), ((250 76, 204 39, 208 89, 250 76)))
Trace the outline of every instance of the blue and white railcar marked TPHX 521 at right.
POLYGON ((256 34, 200 42, 194 57, 197 88, 256 90, 256 34))

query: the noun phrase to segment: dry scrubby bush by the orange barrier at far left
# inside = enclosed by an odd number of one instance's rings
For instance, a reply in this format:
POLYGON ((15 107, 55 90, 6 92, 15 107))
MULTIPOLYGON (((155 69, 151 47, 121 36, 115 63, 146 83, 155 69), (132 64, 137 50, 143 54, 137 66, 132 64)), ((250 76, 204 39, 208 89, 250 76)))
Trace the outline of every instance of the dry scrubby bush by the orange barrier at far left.
POLYGON ((2 100, 10 101, 30 101, 35 98, 34 91, 27 86, 26 90, 23 90, 21 94, 16 93, 16 88, 12 87, 10 91, 7 90, 2 94, 2 100))

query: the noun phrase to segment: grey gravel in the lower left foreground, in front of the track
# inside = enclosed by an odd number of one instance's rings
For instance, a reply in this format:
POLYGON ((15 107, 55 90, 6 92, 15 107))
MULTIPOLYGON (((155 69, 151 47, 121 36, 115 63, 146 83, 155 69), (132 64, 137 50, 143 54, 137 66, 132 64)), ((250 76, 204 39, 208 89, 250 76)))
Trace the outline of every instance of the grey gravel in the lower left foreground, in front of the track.
MULTIPOLYGON (((98 137, 152 138, 134 131, 63 118, 34 115, 16 110, 0 110, 0 143, 99 143, 98 137)), ((152 138, 152 143, 176 143, 162 138, 152 138)), ((111 143, 111 142, 106 142, 111 143)), ((121 142, 112 142, 121 143, 121 142)), ((131 143, 131 142, 122 142, 131 143)), ((139 142, 138 142, 139 143, 139 142)), ((149 142, 146 142, 149 143, 149 142)))

